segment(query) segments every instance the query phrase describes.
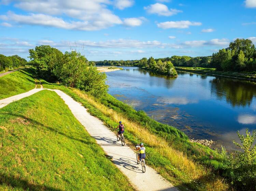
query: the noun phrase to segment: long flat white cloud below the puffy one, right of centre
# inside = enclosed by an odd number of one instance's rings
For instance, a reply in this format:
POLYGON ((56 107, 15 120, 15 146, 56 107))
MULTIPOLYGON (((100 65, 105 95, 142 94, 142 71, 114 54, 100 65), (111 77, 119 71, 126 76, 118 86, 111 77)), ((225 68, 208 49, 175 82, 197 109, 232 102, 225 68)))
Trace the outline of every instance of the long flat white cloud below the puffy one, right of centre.
POLYGON ((189 28, 189 26, 200 26, 201 22, 191 22, 191 21, 167 21, 167 22, 160 22, 157 23, 157 27, 162 29, 185 29, 189 28))

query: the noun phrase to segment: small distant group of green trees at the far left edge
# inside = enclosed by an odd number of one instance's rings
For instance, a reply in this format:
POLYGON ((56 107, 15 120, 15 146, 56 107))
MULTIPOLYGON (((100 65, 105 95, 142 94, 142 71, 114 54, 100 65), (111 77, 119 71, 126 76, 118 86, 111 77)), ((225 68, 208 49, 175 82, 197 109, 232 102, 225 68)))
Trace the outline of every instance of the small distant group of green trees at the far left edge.
POLYGON ((27 60, 18 55, 5 56, 0 54, 0 71, 18 68, 26 64, 27 60))

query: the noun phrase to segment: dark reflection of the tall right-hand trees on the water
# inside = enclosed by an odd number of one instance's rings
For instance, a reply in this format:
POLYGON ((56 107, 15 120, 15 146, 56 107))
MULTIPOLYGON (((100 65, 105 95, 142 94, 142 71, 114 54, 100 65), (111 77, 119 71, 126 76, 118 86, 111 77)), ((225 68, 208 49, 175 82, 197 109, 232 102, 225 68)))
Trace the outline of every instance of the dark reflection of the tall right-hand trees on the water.
POLYGON ((250 106, 256 96, 256 84, 252 82, 215 77, 210 83, 211 92, 215 93, 218 99, 226 98, 233 107, 250 106))

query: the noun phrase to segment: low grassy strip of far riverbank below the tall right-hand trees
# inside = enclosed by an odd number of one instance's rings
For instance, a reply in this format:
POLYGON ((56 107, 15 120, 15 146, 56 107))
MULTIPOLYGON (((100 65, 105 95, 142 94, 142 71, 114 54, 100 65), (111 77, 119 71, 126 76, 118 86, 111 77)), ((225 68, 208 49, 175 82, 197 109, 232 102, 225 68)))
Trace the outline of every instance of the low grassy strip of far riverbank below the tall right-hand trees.
POLYGON ((223 77, 232 77, 236 79, 256 81, 256 74, 223 72, 223 71, 216 71, 215 68, 200 68, 200 67, 175 67, 175 69, 179 71, 195 72, 195 73, 201 73, 201 74, 217 75, 217 76, 223 76, 223 77))

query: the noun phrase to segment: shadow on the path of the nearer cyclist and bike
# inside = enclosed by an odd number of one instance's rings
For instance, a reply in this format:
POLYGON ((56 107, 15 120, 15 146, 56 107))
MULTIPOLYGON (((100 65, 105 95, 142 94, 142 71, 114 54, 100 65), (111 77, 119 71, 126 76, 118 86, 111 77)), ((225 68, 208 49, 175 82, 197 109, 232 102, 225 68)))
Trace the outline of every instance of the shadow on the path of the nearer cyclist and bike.
POLYGON ((119 166, 123 166, 124 168, 126 168, 130 171, 134 171, 137 173, 143 173, 142 169, 140 169, 141 165, 137 164, 137 161, 133 161, 128 158, 119 158, 119 159, 113 159, 112 162, 119 166))

